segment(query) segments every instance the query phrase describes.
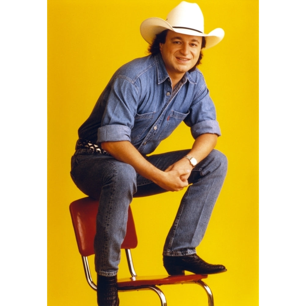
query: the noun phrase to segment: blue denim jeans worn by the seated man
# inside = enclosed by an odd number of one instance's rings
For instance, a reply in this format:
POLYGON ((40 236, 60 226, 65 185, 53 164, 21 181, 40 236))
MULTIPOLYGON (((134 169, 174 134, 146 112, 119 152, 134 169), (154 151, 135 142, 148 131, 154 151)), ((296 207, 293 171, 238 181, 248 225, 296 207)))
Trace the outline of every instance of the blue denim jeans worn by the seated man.
MULTIPOLYGON (((160 170, 180 160, 190 150, 145 157, 160 170)), ((110 155, 78 149, 71 161, 71 177, 86 195, 99 199, 96 220, 95 270, 104 276, 118 272, 120 247, 126 233, 128 207, 133 197, 166 192, 140 176, 129 164, 110 155)), ((213 150, 192 170, 188 186, 166 237, 163 255, 184 256, 196 253, 202 241, 227 171, 227 159, 213 150)))

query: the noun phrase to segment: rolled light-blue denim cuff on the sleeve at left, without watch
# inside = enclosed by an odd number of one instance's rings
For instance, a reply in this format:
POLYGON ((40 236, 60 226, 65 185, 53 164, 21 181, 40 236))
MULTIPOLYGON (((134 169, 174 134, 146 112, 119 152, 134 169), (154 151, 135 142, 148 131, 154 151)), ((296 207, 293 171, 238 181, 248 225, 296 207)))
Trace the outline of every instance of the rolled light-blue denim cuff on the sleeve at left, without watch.
POLYGON ((98 129, 97 143, 105 141, 131 141, 131 129, 125 125, 106 125, 98 129))

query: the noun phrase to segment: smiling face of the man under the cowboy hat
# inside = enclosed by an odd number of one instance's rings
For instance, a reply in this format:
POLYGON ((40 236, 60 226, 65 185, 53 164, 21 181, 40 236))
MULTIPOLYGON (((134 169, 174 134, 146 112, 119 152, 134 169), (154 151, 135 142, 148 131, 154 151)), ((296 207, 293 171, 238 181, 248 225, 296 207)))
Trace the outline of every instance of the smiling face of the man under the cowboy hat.
POLYGON ((159 44, 170 78, 181 78, 199 59, 202 37, 168 31, 165 43, 159 44))

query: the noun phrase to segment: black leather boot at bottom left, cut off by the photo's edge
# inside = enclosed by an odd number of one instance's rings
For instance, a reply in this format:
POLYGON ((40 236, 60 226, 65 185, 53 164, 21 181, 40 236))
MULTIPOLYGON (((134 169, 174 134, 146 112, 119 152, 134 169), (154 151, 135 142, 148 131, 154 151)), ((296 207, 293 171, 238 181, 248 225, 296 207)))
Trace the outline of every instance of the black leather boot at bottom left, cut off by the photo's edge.
POLYGON ((99 306, 118 306, 117 275, 102 276, 97 274, 97 301, 99 306))

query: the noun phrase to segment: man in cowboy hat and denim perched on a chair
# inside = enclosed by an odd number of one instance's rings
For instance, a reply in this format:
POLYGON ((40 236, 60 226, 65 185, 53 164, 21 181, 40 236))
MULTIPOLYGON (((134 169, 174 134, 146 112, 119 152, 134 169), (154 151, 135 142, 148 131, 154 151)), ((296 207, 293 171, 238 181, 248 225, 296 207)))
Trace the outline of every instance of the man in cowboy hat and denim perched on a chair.
POLYGON ((99 306, 119 305, 117 272, 132 198, 188 187, 163 249, 168 274, 226 271, 196 255, 226 176, 227 159, 214 150, 220 129, 215 106, 196 66, 201 50, 224 31, 204 34, 196 3, 181 2, 167 20, 140 26, 151 55, 119 68, 78 130, 71 176, 99 199, 95 269, 99 306), (191 149, 149 155, 184 121, 195 139, 191 149), (189 186, 188 186, 189 185, 189 186))

